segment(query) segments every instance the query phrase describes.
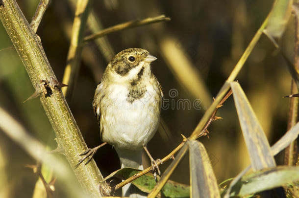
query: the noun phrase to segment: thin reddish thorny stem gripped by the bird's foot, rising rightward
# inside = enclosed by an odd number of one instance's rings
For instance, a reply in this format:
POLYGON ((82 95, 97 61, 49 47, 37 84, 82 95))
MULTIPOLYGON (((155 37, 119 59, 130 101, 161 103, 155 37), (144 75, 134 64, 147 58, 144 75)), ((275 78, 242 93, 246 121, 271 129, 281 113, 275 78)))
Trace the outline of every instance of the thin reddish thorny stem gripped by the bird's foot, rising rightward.
MULTIPOLYGON (((227 94, 224 96, 224 98, 221 100, 221 102, 218 104, 217 109, 214 110, 212 116, 210 117, 210 119, 208 120, 208 122, 206 123, 204 129, 202 130, 202 132, 199 134, 198 137, 207 135, 206 130, 208 129, 208 127, 210 126, 210 124, 212 123, 212 121, 215 119, 215 115, 216 115, 217 110, 220 107, 222 107, 223 103, 226 101, 226 99, 231 94, 232 94, 232 91, 229 90, 227 92, 227 94)), ((162 163, 168 161, 169 159, 174 159, 174 154, 176 154, 184 146, 184 144, 186 143, 186 141, 187 141, 187 138, 185 136, 183 136, 183 141, 170 154, 168 154, 163 159, 161 159, 162 163)), ((157 164, 160 165, 161 163, 159 161, 157 161, 157 164)), ((143 170, 143 171, 141 171, 141 172, 139 172, 139 173, 137 173, 137 174, 135 174, 135 175, 127 178, 126 180, 124 180, 121 183, 117 184, 114 189, 117 190, 117 189, 122 188, 123 186, 125 186, 126 184, 132 182, 133 180, 137 179, 138 177, 143 176, 143 175, 149 173, 149 171, 151 171, 151 167, 149 167, 149 168, 147 168, 147 169, 145 169, 145 170, 143 170)), ((107 179, 107 178, 105 178, 105 179, 107 179)))

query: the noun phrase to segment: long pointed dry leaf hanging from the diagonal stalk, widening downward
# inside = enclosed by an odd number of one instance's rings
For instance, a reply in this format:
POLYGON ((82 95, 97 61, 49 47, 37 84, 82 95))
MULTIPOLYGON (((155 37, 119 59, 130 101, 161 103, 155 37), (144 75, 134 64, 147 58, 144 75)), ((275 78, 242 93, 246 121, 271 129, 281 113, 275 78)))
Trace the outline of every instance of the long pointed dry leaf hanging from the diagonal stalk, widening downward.
POLYGON ((238 82, 230 83, 253 171, 274 167, 267 137, 238 82))

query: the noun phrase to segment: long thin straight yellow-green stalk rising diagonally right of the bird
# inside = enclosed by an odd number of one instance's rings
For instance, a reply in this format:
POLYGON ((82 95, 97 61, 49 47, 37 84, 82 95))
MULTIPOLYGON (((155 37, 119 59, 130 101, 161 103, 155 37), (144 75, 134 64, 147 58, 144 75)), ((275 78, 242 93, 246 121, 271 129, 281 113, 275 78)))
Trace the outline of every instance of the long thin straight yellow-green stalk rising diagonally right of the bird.
MULTIPOLYGON (((233 82, 235 80, 235 78, 237 77, 238 73, 240 72, 240 70, 244 66, 247 58, 250 55, 250 53, 252 52, 254 46, 256 45, 256 43, 258 42, 259 38, 263 34, 263 30, 267 26, 268 20, 269 20, 269 14, 268 14, 267 18, 265 19, 265 21, 260 26, 260 28, 255 33, 254 37, 252 38, 252 40, 250 41, 249 45, 247 46, 245 52, 243 53, 243 55, 241 56, 240 60, 238 61, 238 63, 236 64, 236 66, 234 67, 234 69, 232 70, 232 72, 230 73, 229 77, 227 78, 226 82, 224 83, 224 85, 220 89, 219 93, 217 94, 215 100, 213 101, 213 103, 211 104, 211 106, 207 109, 207 111, 204 113, 203 117, 199 121, 199 124, 197 125, 197 127, 195 128, 195 130, 192 132, 191 136, 188 139, 190 139, 190 140, 196 140, 198 138, 200 132, 202 132, 202 129, 204 128, 205 123, 211 117, 211 115, 213 114, 214 110, 217 108, 217 105, 222 100, 222 98, 224 97, 224 95, 228 91, 228 89, 230 88, 230 82, 233 82)), ((182 153, 182 155, 184 155, 186 153, 186 151, 187 150, 184 150, 184 152, 182 153)), ((182 157, 183 156, 180 155, 179 160, 182 157)), ((176 167, 176 165, 174 165, 175 163, 178 163, 178 162, 176 160, 173 161, 171 163, 171 165, 165 170, 165 173, 169 173, 169 174, 163 174, 161 176, 161 179, 158 181, 158 183, 156 184, 156 186, 153 188, 152 192, 149 194, 149 198, 156 197, 157 194, 161 191, 161 189, 163 188, 163 186, 165 185, 165 183, 167 182, 167 180, 171 176, 171 173, 173 173, 173 171, 174 171, 174 169, 176 167)))

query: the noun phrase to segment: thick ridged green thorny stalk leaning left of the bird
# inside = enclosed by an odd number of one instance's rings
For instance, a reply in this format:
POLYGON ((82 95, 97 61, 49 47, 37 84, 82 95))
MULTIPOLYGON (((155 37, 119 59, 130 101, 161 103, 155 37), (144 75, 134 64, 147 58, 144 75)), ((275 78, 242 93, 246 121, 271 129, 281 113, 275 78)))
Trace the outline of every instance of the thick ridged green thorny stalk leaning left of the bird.
MULTIPOLYGON (((26 21, 17 2, 15 0, 2 0, 2 2, 0 21, 22 59, 32 85, 41 88, 41 79, 56 80, 42 44, 26 21)), ((74 169, 79 161, 79 154, 85 151, 87 146, 61 90, 51 86, 51 91, 50 97, 42 94, 40 101, 53 127, 57 142, 63 148, 68 162, 74 169)), ((101 197, 99 184, 102 176, 94 160, 86 166, 79 166, 74 173, 86 192, 93 197, 101 197)))

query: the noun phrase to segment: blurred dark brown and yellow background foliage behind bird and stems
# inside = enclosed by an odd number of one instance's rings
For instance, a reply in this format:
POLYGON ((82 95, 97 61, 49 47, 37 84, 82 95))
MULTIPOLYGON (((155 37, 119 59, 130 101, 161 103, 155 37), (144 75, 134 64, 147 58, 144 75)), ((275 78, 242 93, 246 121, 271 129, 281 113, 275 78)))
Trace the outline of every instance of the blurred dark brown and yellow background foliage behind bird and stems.
MULTIPOLYGON (((53 0, 37 31, 60 81, 66 66, 74 19, 71 1, 53 0)), ((39 0, 17 2, 30 22, 39 0)), ((107 61, 125 48, 140 47, 158 58, 152 64, 152 70, 165 98, 175 104, 179 99, 191 102, 190 109, 170 106, 161 112, 163 127, 159 127, 149 142, 149 151, 154 158, 169 154, 182 141, 180 134, 189 136, 194 130, 272 4, 273 0, 94 1, 93 11, 102 28, 161 14, 172 20, 109 34, 102 39, 105 44, 101 51, 95 42, 84 46, 79 76, 68 103, 87 145, 92 148, 101 143, 91 102, 107 61), (184 73, 186 71, 190 72, 184 73), (169 91, 174 89, 177 94, 169 95, 169 91), (200 110, 193 107, 196 99, 201 100, 200 110)), ((91 32, 87 31, 86 35, 89 34, 91 32)), ((294 30, 289 27, 280 41, 291 60, 293 35, 294 30)), ((237 80, 272 145, 286 132, 289 99, 282 96, 290 94, 291 76, 282 56, 275 53, 275 47, 265 35, 250 54, 237 80)), ((0 25, 0 105, 33 136, 55 149, 54 133, 40 101, 33 99, 23 103, 33 92, 25 68, 0 25)), ((199 140, 209 154, 220 183, 247 167, 249 156, 232 97, 218 111, 218 116, 224 119, 212 123, 209 138, 205 136, 199 140)), ((111 146, 101 148, 94 159, 103 176, 120 168, 117 154, 111 146)), ((283 164, 283 154, 278 154, 275 159, 278 165, 283 164)), ((34 159, 0 133, 0 197, 31 197, 38 177, 24 165, 34 163, 34 159)), ((162 165, 161 170, 169 163, 162 165)), ((145 164, 149 165, 146 158, 145 164)), ((171 179, 189 184, 188 170, 188 156, 185 156, 171 179)), ((59 186, 59 176, 57 180, 55 194, 61 197, 63 186, 59 186)))

